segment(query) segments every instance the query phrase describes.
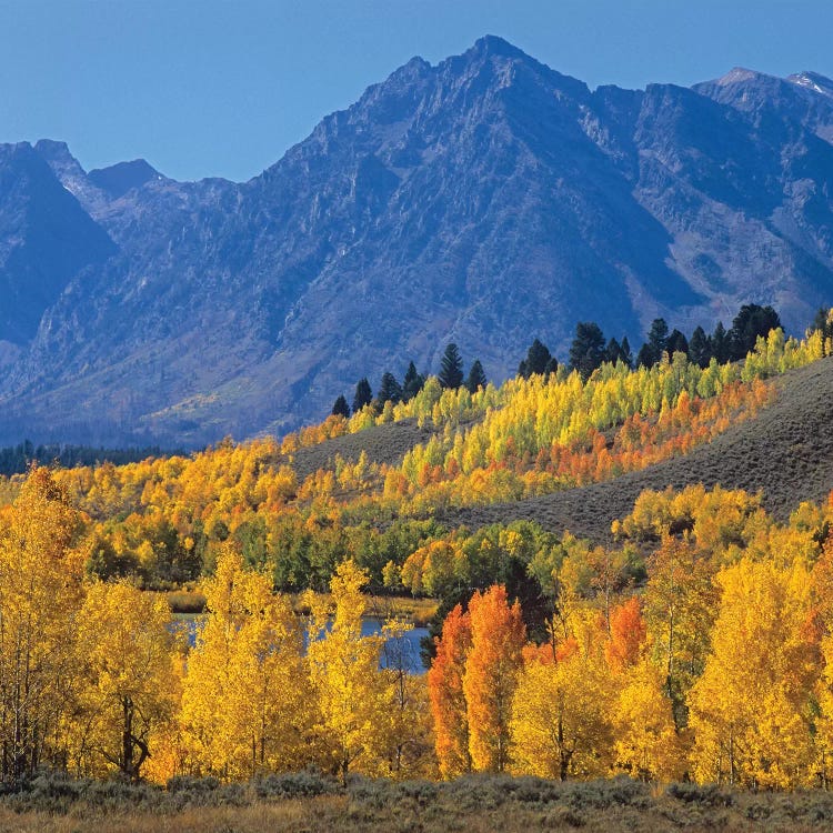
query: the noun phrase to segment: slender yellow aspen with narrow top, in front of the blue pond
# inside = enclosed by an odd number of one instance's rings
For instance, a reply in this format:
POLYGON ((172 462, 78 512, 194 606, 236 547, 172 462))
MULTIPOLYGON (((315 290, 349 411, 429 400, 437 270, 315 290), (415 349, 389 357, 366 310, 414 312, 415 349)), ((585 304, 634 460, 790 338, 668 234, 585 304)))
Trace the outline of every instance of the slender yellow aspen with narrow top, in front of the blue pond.
POLYGON ((379 671, 382 638, 362 636, 368 574, 352 560, 339 564, 330 582, 332 604, 310 593, 310 680, 318 731, 331 766, 342 781, 351 769, 373 771, 384 679, 379 671))

